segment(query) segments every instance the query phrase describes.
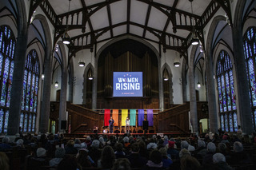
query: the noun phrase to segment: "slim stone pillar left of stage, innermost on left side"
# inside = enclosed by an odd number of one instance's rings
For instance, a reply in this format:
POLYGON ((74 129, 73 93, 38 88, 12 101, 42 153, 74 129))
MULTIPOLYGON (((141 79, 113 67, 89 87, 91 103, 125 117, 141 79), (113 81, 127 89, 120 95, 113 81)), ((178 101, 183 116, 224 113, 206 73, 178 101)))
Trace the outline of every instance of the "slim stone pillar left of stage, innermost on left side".
POLYGON ((58 131, 61 130, 62 121, 66 120, 66 93, 67 93, 67 70, 66 66, 62 66, 62 86, 59 101, 58 131))

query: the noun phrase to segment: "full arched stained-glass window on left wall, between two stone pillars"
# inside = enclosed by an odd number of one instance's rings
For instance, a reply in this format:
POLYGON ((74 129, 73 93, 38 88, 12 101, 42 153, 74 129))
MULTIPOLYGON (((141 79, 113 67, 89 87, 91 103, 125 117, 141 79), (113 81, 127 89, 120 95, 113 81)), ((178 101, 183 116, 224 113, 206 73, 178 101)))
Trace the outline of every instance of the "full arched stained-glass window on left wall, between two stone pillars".
POLYGON ((34 132, 38 108, 39 61, 32 49, 26 57, 22 90, 22 113, 20 125, 23 132, 34 132))

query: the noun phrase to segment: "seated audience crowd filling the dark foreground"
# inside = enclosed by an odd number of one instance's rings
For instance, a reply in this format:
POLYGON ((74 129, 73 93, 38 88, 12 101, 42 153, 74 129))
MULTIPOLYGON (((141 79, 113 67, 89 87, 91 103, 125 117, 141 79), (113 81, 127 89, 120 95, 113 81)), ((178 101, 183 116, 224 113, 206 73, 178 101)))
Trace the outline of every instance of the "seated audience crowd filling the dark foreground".
POLYGON ((0 144, 0 169, 15 165, 8 153, 18 151, 21 169, 256 169, 256 134, 211 132, 190 137, 98 135, 70 139, 63 134, 26 134, 0 144), (24 152, 22 152, 24 151, 24 152), (24 153, 22 155, 22 153, 24 153), (23 164, 22 164, 23 163, 23 164))

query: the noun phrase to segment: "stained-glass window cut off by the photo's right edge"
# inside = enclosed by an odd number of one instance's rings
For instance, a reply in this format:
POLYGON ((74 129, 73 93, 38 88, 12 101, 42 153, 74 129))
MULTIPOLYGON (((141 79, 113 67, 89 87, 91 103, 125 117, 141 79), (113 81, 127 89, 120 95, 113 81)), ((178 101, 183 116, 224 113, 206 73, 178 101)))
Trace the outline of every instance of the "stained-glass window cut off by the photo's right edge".
POLYGON ((244 51, 246 57, 247 79, 249 81, 250 90, 250 106, 254 129, 256 129, 256 27, 250 27, 244 35, 244 51))

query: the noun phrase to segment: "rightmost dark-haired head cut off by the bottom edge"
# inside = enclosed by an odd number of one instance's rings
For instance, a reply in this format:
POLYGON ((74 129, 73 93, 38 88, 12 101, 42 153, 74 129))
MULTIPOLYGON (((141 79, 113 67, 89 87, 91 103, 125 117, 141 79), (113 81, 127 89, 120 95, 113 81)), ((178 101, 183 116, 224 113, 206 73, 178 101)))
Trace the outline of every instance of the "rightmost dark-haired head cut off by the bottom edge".
POLYGON ((186 156, 181 159, 181 170, 198 170, 200 163, 193 156, 186 156))

